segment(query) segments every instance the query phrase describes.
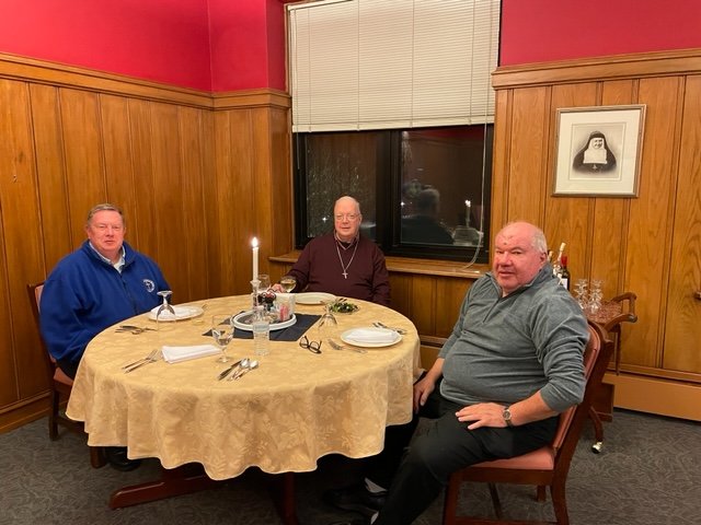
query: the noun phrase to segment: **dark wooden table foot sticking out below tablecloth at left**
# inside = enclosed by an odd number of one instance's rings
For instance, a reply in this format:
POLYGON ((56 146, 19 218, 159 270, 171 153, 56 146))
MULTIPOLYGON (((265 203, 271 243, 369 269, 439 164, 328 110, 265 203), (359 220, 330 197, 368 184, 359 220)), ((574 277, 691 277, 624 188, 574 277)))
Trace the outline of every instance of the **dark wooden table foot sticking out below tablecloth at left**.
POLYGON ((122 509, 188 494, 209 489, 217 482, 210 479, 198 465, 183 465, 172 469, 161 467, 160 479, 116 490, 110 498, 110 509, 122 509))

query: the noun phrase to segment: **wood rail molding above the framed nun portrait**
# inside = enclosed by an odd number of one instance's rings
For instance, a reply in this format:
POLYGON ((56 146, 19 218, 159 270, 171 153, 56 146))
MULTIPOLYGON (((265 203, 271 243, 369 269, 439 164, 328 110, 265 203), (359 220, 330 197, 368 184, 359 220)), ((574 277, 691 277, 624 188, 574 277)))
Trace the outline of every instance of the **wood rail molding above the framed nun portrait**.
POLYGON ((700 70, 701 48, 698 48, 505 66, 494 71, 492 84, 495 90, 503 90, 552 83, 659 78, 700 70))

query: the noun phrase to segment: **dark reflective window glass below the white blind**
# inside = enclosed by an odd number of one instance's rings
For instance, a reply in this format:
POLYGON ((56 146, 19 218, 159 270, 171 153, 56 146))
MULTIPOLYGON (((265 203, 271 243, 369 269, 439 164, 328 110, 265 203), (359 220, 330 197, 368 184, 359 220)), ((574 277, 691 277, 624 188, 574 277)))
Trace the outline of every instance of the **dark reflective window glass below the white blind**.
POLYGON ((486 262, 492 128, 296 133, 297 247, 350 195, 386 255, 486 262))

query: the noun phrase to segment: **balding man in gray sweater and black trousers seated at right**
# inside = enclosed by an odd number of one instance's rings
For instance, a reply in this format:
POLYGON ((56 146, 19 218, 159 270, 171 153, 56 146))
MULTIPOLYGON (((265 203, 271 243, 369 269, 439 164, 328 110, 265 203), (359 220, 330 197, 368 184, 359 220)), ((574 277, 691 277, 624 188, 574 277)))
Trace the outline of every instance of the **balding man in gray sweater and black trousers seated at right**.
POLYGON ((388 428, 364 486, 325 494, 364 514, 336 525, 409 525, 453 471, 552 441, 558 415, 584 396, 589 336, 547 254, 545 236, 530 223, 497 233, 492 271, 470 288, 435 364, 414 385, 416 417, 388 428), (405 448, 418 417, 430 421, 405 448))

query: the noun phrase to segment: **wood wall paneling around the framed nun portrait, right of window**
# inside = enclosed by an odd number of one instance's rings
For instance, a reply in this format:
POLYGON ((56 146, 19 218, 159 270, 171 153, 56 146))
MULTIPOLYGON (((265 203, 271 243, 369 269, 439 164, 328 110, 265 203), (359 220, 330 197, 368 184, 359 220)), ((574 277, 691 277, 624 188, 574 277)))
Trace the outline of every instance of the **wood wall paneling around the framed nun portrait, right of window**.
POLYGON ((701 49, 605 57, 499 68, 493 77, 493 220, 541 213, 551 245, 567 243, 575 280, 604 279, 605 296, 627 290, 637 294, 639 320, 623 327, 624 375, 616 380, 622 388, 617 406, 690 419, 701 419, 701 306, 692 296, 701 280, 700 58, 701 49), (550 90, 550 100, 533 96, 539 89, 550 90), (637 197, 552 196, 556 108, 628 104, 646 106, 637 197), (550 105, 553 121, 545 124, 544 135, 553 140, 539 156, 521 122, 532 119, 540 133, 541 105, 550 105), (521 192, 543 187, 543 163, 549 173, 544 198, 528 202, 521 192), (699 386, 688 388, 690 383, 699 386), (671 393, 692 393, 694 400, 675 404, 671 393), (669 402, 635 398, 655 395, 669 402))

